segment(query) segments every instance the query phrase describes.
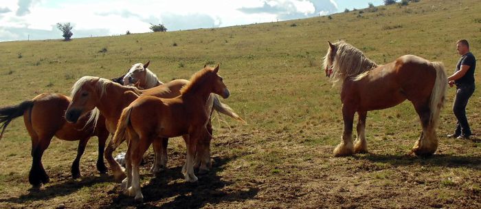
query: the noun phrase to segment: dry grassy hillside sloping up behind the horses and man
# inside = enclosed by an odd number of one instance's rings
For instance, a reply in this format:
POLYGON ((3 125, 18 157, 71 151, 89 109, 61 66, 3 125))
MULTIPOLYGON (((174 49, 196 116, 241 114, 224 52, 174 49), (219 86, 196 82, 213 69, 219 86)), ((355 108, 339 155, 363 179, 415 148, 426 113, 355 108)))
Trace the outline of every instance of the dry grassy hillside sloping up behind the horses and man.
MULTIPOLYGON (((153 161, 149 151, 141 169, 144 206, 480 208, 481 140, 443 137, 455 125, 454 89, 449 89, 441 114, 434 157, 407 155, 421 133, 409 102, 368 113, 370 153, 332 157, 342 135, 341 103, 339 90, 331 87, 320 66, 326 41, 343 39, 377 63, 415 54, 442 61, 451 74, 459 58, 456 41, 467 39, 479 57, 480 32, 478 1, 421 0, 381 6, 377 12, 229 28, 5 42, 0 43, 0 105, 43 92, 69 94, 82 76, 113 78, 148 60, 149 69, 163 81, 189 78, 204 64, 220 63, 231 91, 223 102, 248 124, 214 118, 214 169, 195 184, 184 182, 180 174, 186 152, 180 138, 170 140, 169 170, 158 177, 148 172, 153 161)), ((481 80, 479 74, 476 79, 481 80)), ((468 118, 479 136, 478 89, 468 118)), ((96 143, 92 139, 82 157, 83 177, 71 180, 77 142, 53 140, 43 157, 52 182, 29 190, 30 137, 22 118, 12 122, 0 141, 0 208, 133 206, 119 184, 96 173, 96 143)))

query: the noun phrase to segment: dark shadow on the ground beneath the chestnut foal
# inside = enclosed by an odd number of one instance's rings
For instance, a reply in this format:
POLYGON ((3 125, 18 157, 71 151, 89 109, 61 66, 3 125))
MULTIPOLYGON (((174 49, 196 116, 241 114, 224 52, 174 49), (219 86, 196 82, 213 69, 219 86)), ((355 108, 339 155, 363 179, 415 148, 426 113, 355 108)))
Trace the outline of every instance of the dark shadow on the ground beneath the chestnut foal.
MULTIPOLYGON (((150 179, 150 183, 142 186, 142 194, 144 195, 144 203, 136 206, 141 208, 202 208, 208 204, 216 204, 221 201, 241 201, 244 199, 252 199, 258 193, 258 188, 238 188, 238 190, 227 189, 226 186, 234 184, 232 181, 225 181, 217 173, 224 170, 224 165, 236 157, 214 157, 214 165, 209 173, 197 175, 199 180, 194 183, 186 182, 181 175, 182 166, 169 168, 161 175, 150 179), (174 182, 169 183, 169 182, 174 182), (170 200, 171 199, 171 200, 170 200), (159 201, 167 201, 161 206, 159 201)), ((135 206, 133 197, 127 197, 122 194, 120 186, 114 188, 118 192, 111 205, 102 208, 124 208, 126 206, 135 206)))

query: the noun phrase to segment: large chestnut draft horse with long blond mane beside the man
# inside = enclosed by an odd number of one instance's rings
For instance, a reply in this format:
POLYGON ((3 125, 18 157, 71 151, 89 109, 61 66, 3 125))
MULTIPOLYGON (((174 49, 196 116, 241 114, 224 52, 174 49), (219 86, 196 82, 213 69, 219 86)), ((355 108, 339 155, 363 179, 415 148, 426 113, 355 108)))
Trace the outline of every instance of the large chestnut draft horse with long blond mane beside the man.
POLYGON ((447 78, 443 63, 430 62, 414 55, 404 55, 392 63, 377 65, 361 50, 344 41, 328 42, 324 56, 326 76, 341 86, 344 133, 334 149, 335 156, 367 153, 367 112, 394 107, 410 100, 421 119, 423 131, 412 152, 427 157, 436 152, 440 109, 445 102, 447 78), (374 93, 375 91, 375 93, 374 93), (357 112, 357 139, 353 144, 353 119, 357 112))

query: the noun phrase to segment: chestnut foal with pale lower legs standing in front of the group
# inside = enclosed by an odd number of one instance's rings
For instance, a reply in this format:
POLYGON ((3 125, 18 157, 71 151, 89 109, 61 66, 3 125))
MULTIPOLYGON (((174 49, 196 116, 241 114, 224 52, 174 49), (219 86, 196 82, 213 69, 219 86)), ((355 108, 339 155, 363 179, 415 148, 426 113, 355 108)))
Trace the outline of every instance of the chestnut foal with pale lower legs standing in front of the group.
POLYGON ((139 164, 147 148, 159 137, 183 137, 187 146, 187 160, 182 173, 186 181, 197 181, 193 159, 197 141, 208 132, 205 124, 210 119, 210 113, 205 111, 205 100, 212 93, 223 98, 230 96, 218 72, 219 65, 215 68, 204 67, 190 78, 190 83, 181 89, 181 95, 175 98, 141 96, 122 111, 108 148, 115 150, 124 138, 128 140, 126 179, 122 181, 126 195, 135 197, 135 201, 143 200, 139 164))

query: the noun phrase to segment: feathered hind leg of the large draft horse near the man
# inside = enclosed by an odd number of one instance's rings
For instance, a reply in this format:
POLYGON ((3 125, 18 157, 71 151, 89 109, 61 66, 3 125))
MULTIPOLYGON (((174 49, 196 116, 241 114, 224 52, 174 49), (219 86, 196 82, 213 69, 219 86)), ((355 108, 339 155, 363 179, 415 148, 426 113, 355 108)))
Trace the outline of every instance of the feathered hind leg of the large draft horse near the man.
POLYGON ((413 102, 414 109, 419 115, 421 120, 421 126, 423 126, 423 132, 419 136, 419 139, 414 143, 412 152, 414 154, 427 157, 436 152, 438 148, 438 137, 436 137, 435 127, 430 124, 431 111, 429 110, 429 102, 413 102))

